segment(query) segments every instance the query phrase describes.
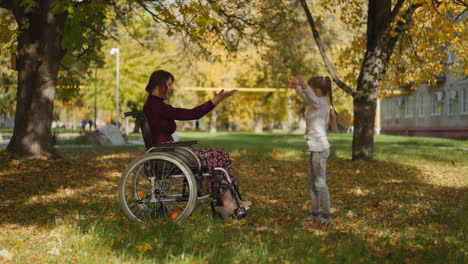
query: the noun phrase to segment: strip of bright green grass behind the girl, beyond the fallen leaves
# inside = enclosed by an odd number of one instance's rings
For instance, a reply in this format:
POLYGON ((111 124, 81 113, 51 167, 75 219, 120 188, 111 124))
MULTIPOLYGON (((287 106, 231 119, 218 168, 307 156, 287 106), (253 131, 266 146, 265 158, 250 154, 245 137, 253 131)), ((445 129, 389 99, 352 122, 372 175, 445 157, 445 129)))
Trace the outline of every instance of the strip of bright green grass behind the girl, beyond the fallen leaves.
MULTIPOLYGON (((283 158, 303 159, 308 154, 303 135, 251 134, 220 132, 215 135, 204 132, 182 132, 181 140, 197 140, 197 147, 223 147, 235 155, 271 157, 273 148, 283 158)), ((332 156, 351 159, 352 135, 328 136, 332 156)), ((429 137, 375 136, 375 159, 402 163, 424 164, 450 163, 452 160, 466 162, 468 140, 453 140, 429 137)), ((466 163, 464 163, 466 164, 466 163)))

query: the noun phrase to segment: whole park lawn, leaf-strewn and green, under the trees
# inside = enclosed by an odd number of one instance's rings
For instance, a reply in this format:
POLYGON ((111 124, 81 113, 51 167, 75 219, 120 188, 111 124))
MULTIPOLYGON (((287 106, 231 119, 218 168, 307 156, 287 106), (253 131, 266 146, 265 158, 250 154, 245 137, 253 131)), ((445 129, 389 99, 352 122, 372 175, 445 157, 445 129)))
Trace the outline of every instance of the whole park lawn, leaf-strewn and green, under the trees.
POLYGON ((335 224, 303 225, 302 135, 181 135, 232 153, 254 203, 246 218, 225 225, 204 201, 182 223, 129 222, 117 181, 142 147, 60 149, 55 161, 0 151, 0 262, 466 263, 465 141, 378 136, 376 160, 352 162, 351 136, 330 135, 335 224))

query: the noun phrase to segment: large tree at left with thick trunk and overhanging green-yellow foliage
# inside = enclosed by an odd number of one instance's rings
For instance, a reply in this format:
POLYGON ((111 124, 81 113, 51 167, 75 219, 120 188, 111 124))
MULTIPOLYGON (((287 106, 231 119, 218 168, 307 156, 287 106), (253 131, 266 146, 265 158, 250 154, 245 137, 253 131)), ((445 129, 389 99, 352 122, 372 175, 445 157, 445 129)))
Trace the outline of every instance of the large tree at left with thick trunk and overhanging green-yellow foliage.
POLYGON ((207 50, 207 37, 234 47, 247 34, 249 2, 0 0, 0 8, 17 23, 15 128, 7 149, 24 158, 54 156, 50 135, 61 63, 66 56, 79 58, 100 47, 109 10, 122 22, 145 10, 168 34, 184 32, 207 50))

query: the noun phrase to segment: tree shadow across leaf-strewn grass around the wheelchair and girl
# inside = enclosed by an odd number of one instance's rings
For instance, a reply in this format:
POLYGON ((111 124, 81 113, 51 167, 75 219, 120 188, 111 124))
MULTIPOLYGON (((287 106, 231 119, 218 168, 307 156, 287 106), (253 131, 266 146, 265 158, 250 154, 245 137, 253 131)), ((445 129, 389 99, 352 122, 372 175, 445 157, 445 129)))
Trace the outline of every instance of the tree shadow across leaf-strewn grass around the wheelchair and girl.
POLYGON ((183 223, 135 224, 120 212, 116 193, 121 173, 141 153, 63 154, 57 161, 2 163, 0 224, 47 229, 61 219, 70 232, 98 238, 98 247, 142 262, 459 262, 465 256, 459 248, 467 188, 427 184, 412 166, 330 159, 336 224, 303 227, 310 212, 306 160, 239 157, 239 185, 254 202, 247 218, 223 225, 203 203, 183 223))

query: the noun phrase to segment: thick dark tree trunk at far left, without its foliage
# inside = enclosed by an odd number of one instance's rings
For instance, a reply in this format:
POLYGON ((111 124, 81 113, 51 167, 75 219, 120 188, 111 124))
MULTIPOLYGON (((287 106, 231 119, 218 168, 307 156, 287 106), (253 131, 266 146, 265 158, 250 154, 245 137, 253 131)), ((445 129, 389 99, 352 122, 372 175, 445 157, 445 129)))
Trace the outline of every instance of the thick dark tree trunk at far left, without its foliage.
POLYGON ((25 13, 18 1, 13 13, 18 27, 18 91, 15 128, 7 149, 22 158, 52 157, 51 124, 65 14, 54 14, 56 1, 38 1, 25 13), (27 24, 25 24, 27 23, 27 24))

